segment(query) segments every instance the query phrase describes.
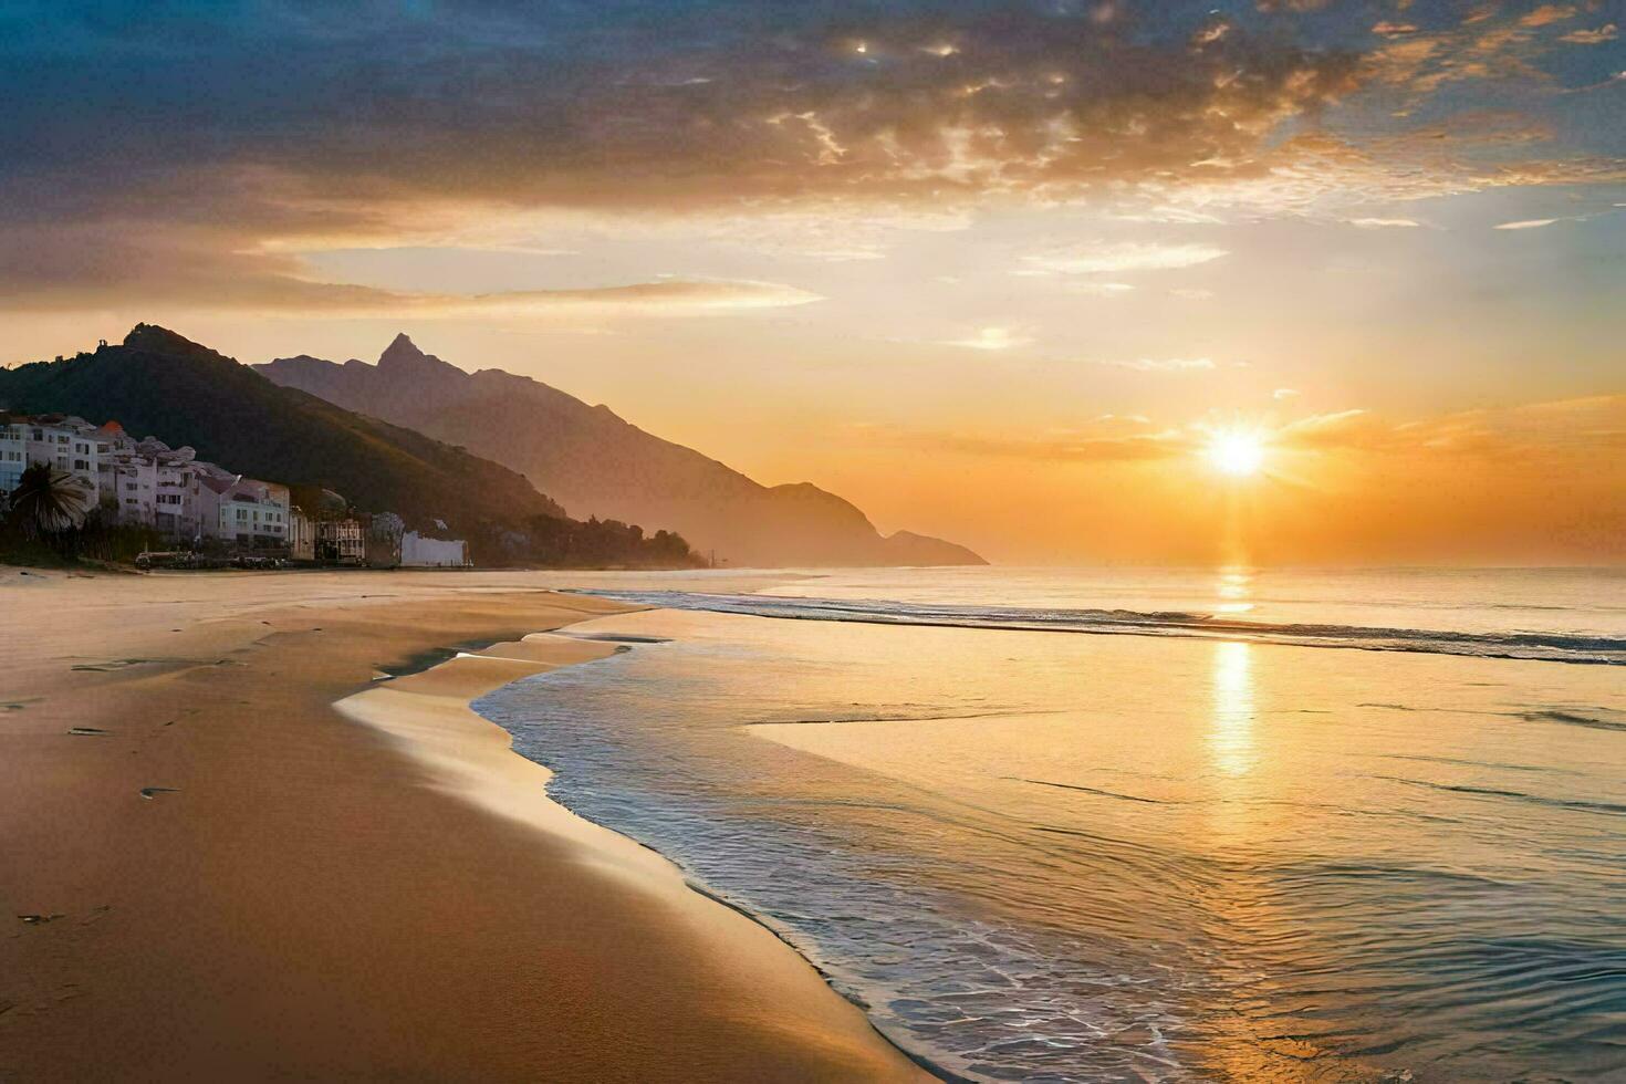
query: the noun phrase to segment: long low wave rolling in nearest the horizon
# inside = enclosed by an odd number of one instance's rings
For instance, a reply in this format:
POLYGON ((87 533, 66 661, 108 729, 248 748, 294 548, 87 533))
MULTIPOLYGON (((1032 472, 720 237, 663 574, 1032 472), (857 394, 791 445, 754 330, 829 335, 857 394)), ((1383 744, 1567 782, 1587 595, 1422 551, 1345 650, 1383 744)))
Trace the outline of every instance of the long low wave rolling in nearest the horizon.
POLYGON ((580 592, 665 609, 704 609, 793 621, 1086 632, 1096 635, 1172 635, 1189 639, 1343 647, 1366 652, 1421 652, 1475 658, 1522 658, 1554 663, 1626 665, 1626 639, 1566 632, 1460 632, 1385 629, 1345 624, 1270 624, 1203 613, 1137 609, 1037 609, 1015 606, 948 606, 885 600, 780 598, 774 595, 706 595, 698 592, 580 592))

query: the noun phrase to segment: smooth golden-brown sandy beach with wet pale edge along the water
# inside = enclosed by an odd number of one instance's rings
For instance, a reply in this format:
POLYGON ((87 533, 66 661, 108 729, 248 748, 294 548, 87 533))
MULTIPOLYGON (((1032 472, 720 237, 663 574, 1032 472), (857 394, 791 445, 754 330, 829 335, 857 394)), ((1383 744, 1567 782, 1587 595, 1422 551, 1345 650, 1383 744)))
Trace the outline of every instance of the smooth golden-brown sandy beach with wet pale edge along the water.
POLYGON ((0 1079, 924 1077, 468 709, 563 582, 0 570, 0 1079))

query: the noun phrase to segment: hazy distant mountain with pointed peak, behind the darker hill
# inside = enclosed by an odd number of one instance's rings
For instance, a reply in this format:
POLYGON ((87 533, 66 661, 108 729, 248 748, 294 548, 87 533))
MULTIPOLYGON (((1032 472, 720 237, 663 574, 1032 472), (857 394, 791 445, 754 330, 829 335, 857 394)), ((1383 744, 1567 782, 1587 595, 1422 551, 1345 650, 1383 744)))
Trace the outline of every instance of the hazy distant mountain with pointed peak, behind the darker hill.
POLYGON ((763 486, 608 406, 499 369, 465 372, 398 335, 376 366, 301 354, 255 366, 283 387, 410 426, 522 471, 572 515, 659 523, 733 566, 987 564, 964 546, 881 536, 810 483, 763 486))

